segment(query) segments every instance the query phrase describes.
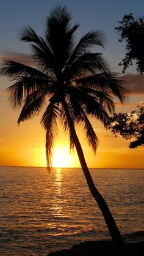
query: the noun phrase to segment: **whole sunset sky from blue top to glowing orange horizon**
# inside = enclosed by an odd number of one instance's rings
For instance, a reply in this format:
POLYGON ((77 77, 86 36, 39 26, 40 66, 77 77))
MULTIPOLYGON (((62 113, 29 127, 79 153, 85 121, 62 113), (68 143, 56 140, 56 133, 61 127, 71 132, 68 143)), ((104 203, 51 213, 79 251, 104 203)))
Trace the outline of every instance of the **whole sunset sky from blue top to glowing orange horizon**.
MULTIPOLYGON (((31 49, 28 43, 18 39, 19 32, 29 24, 42 36, 46 17, 57 5, 67 6, 73 15, 72 24, 81 24, 77 30, 77 39, 92 29, 101 29, 104 32, 107 39, 106 48, 93 48, 93 51, 103 53, 112 71, 121 75, 122 68, 118 63, 124 57, 125 44, 118 42, 118 33, 114 28, 118 26, 118 21, 122 20, 124 13, 142 17, 143 0, 1 0, 0 61, 12 58, 26 63, 31 49)), ((123 106, 116 102, 117 112, 129 113, 136 109, 137 105, 144 105, 144 78, 137 74, 135 66, 127 70, 126 79, 131 93, 123 106)), ((40 116, 21 122, 20 126, 17 126, 20 109, 13 110, 4 92, 10 85, 12 81, 0 77, 0 165, 45 166, 45 130, 40 126, 40 116)), ((129 149, 129 141, 121 137, 115 138, 97 120, 91 121, 99 138, 96 156, 88 148, 82 130, 77 131, 88 167, 144 168, 144 148, 129 149)), ((70 155, 68 137, 63 134, 61 127, 53 156, 55 167, 80 167, 76 152, 70 155)))

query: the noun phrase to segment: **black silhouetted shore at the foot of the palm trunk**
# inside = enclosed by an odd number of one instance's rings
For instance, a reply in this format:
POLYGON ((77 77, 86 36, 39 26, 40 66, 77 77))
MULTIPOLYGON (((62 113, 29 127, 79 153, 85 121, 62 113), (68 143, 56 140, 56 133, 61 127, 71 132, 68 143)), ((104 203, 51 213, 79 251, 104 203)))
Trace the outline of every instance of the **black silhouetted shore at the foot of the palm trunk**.
POLYGON ((126 243, 116 246, 110 241, 91 241, 74 245, 69 250, 60 250, 48 256, 143 256, 144 243, 126 243))

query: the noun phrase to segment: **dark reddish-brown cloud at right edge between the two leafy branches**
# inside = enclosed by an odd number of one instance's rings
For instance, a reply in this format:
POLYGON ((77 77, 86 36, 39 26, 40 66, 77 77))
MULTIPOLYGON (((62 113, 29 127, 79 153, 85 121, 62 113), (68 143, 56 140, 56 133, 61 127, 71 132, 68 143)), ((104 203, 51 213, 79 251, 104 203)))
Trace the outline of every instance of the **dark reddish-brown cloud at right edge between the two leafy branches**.
POLYGON ((128 74, 123 78, 131 94, 144 94, 144 75, 128 74))

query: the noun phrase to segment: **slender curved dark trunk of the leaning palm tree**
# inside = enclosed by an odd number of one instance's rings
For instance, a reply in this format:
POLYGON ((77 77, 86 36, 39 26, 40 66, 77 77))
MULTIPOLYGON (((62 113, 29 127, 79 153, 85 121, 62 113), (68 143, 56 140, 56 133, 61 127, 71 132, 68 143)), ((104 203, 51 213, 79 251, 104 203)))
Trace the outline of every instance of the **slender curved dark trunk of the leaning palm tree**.
POLYGON ((115 223, 115 220, 113 219, 113 216, 110 213, 109 207, 107 206, 106 201, 104 200, 102 195, 99 193, 98 189, 96 189, 95 184, 93 183, 92 176, 90 174, 90 171, 88 170, 87 163, 85 162, 85 157, 82 151, 81 143, 79 142, 79 139, 76 135, 76 130, 74 129, 74 125, 73 125, 73 120, 71 119, 65 100, 63 102, 63 107, 65 109, 65 114, 67 115, 74 145, 76 147, 77 155, 79 157, 82 170, 84 171, 85 179, 87 180, 90 193, 93 195, 93 197, 95 198, 95 201, 98 203, 98 206, 101 209, 101 213, 103 214, 104 220, 106 221, 107 228, 109 229, 110 236, 112 237, 112 241, 114 243, 122 244, 124 243, 123 238, 121 238, 120 231, 118 230, 117 224, 115 223))

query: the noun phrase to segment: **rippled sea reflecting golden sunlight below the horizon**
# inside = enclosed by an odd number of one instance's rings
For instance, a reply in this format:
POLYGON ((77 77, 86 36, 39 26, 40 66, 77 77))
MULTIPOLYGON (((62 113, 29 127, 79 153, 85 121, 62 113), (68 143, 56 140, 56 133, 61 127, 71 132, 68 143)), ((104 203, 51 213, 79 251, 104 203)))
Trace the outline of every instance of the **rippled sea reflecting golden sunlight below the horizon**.
MULTIPOLYGON (((90 170, 127 241, 144 230, 144 170, 90 170), (128 235, 129 234, 129 235, 128 235)), ((81 169, 0 167, 0 255, 47 255, 110 239, 81 169)))

